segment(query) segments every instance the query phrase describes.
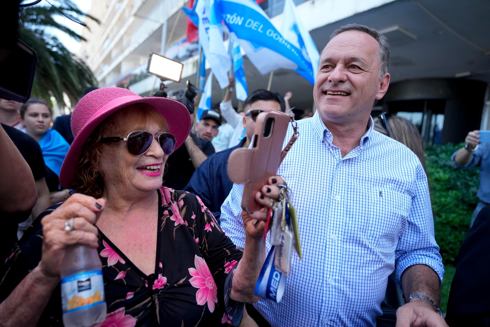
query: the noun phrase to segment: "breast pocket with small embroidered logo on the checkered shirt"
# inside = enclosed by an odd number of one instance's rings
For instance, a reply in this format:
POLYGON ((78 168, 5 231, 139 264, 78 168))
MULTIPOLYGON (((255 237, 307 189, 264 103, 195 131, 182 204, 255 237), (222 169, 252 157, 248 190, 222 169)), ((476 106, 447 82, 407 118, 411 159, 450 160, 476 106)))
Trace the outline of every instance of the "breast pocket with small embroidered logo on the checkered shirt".
POLYGON ((366 241, 379 250, 394 250, 407 225, 412 198, 390 188, 374 187, 368 189, 368 201, 366 241))

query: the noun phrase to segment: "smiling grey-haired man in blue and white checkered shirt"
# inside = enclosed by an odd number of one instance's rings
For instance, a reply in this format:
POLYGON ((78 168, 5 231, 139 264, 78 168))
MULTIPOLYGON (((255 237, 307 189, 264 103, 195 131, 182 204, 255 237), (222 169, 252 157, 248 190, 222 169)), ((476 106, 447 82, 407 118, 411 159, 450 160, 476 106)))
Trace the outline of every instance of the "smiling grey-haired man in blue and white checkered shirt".
MULTIPOLYGON (((388 63, 386 37, 362 25, 336 30, 321 53, 318 110, 298 123, 299 138, 278 170, 292 190, 303 260, 293 253, 280 303, 254 304, 272 326, 374 326, 395 268, 412 298, 398 309, 397 326, 447 326, 435 304, 444 269, 427 177, 412 151, 372 128, 373 103, 390 83, 388 63)), ((243 248, 242 193, 235 184, 221 226, 243 248)))

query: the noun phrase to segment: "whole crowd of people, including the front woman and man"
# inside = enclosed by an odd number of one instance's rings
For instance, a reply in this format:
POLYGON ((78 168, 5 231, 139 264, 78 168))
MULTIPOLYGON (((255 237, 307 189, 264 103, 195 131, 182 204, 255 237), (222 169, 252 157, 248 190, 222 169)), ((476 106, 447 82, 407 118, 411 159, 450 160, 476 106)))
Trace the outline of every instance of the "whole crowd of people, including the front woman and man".
POLYGON ((451 158, 456 168, 480 166, 481 201, 444 320, 423 140, 406 119, 371 117, 390 84, 389 53, 387 38, 364 25, 331 35, 316 112, 297 122, 299 137, 252 213, 228 158, 251 146, 260 113, 291 113, 291 92, 254 90, 237 112, 230 78, 221 103, 196 123, 189 101, 123 88, 87 88, 54 122, 48 101, 1 99, 0 325, 63 325, 61 263, 79 244, 102 261, 108 313, 97 326, 488 326, 489 301, 474 295, 490 289, 480 262, 490 150, 471 131, 451 158), (303 258, 293 252, 274 302, 254 288, 271 248, 266 211, 284 185, 303 258))

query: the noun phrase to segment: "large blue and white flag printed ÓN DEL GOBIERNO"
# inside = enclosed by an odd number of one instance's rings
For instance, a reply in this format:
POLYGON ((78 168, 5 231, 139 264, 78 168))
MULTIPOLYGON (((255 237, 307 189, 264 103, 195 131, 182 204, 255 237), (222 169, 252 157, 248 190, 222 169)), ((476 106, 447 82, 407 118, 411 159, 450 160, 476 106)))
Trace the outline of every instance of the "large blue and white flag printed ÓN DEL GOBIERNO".
MULTIPOLYGON (((199 0, 202 1, 202 0, 199 0)), ((314 83, 315 71, 303 51, 289 42, 253 0, 214 0, 221 17, 239 39, 240 46, 261 74, 279 68, 293 69, 314 83)))

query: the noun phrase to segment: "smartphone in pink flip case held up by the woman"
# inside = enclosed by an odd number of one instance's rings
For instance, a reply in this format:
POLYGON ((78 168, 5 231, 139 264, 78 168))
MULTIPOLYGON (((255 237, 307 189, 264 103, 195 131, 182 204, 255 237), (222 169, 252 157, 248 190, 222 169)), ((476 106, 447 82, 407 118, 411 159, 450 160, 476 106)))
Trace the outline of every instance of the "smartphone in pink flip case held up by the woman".
POLYGON ((279 168, 282 145, 291 116, 277 110, 257 116, 251 149, 236 149, 228 158, 228 176, 234 183, 245 184, 242 209, 252 213, 263 206, 255 194, 267 184, 279 168))

